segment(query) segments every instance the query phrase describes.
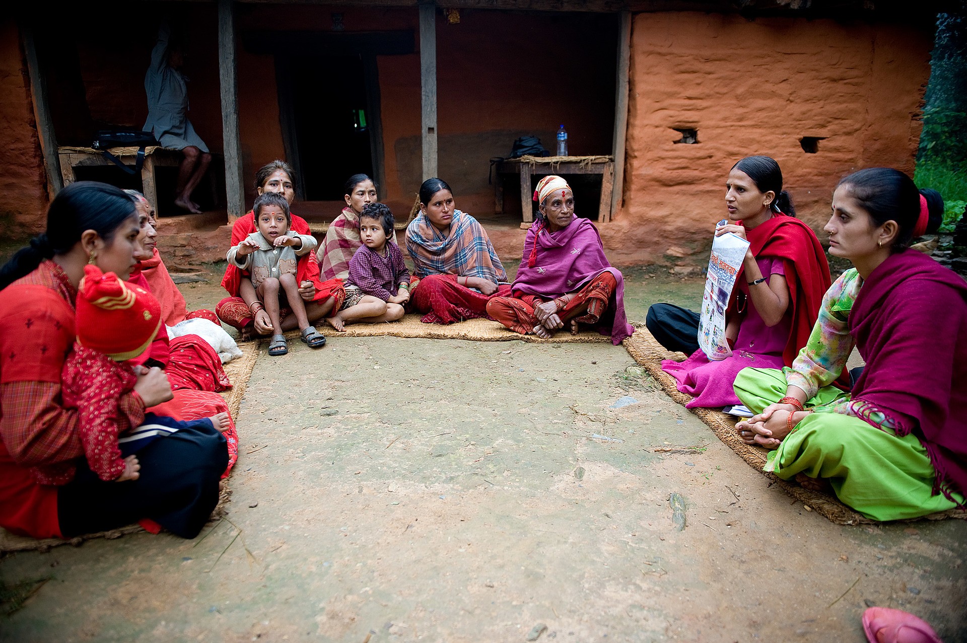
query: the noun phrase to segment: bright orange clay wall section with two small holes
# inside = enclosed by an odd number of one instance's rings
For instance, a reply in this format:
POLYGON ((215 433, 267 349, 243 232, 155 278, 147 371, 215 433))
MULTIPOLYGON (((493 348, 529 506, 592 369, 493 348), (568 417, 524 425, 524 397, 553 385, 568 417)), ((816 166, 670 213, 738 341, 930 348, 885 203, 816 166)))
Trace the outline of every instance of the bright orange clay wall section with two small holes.
POLYGON ((635 15, 631 38, 625 205, 601 226, 613 261, 703 261, 725 216, 725 177, 744 156, 779 162, 817 231, 845 174, 913 173, 929 33, 668 13, 635 15), (674 144, 672 128, 697 129, 699 143, 674 144), (826 138, 806 154, 802 136, 826 138))

